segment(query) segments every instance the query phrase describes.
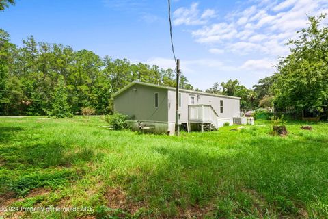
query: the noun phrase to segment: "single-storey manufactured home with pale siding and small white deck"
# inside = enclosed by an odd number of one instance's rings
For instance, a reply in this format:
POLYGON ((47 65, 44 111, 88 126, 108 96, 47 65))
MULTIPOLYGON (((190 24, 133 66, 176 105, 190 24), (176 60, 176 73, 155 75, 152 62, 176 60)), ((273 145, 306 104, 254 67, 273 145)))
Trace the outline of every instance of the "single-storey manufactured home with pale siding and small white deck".
MULTIPOLYGON (((174 134, 176 88, 132 82, 113 95, 114 110, 129 116, 133 129, 174 134)), ((188 131, 215 130, 240 116, 240 98, 179 89, 179 123, 188 131)))

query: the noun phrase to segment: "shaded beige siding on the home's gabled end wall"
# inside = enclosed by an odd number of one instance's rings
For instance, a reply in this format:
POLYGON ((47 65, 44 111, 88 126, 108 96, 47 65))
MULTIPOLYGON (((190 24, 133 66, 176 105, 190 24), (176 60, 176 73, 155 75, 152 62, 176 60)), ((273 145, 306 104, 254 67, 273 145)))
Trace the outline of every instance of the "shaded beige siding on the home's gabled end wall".
POLYGON ((114 97, 114 110, 131 120, 167 122, 167 90, 135 84, 114 97), (154 93, 159 94, 159 107, 154 107, 154 93))

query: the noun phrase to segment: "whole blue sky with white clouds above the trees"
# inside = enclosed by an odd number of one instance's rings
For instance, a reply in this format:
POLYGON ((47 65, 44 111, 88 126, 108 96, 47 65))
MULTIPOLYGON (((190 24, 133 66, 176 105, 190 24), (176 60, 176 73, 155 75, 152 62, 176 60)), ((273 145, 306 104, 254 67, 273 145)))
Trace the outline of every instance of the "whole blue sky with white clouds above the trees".
MULTIPOLYGON (((307 14, 328 12, 328 0, 172 0, 176 55, 195 88, 238 79, 251 88, 275 71, 278 56, 307 14)), ((33 35, 100 56, 174 68, 166 0, 16 0, 0 12, 0 28, 20 45, 33 35)))

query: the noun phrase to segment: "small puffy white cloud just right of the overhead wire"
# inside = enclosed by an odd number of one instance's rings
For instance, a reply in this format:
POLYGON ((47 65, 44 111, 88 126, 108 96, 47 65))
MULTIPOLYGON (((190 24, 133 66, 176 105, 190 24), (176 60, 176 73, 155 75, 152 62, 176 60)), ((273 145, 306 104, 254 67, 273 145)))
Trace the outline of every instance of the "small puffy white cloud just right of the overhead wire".
POLYGON ((174 25, 204 25, 210 18, 215 17, 215 10, 206 9, 200 13, 199 3, 191 3, 190 8, 178 8, 173 13, 174 25))

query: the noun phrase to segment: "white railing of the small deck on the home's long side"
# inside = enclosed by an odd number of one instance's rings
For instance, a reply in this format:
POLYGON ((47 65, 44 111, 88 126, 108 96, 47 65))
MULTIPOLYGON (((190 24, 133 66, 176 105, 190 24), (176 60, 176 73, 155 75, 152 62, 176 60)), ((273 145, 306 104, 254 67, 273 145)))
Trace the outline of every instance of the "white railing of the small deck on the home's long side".
POLYGON ((211 105, 189 105, 188 120, 191 123, 213 123, 215 128, 219 127, 217 120, 219 115, 211 105))

